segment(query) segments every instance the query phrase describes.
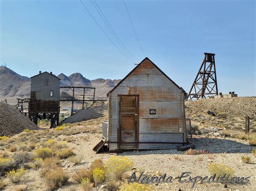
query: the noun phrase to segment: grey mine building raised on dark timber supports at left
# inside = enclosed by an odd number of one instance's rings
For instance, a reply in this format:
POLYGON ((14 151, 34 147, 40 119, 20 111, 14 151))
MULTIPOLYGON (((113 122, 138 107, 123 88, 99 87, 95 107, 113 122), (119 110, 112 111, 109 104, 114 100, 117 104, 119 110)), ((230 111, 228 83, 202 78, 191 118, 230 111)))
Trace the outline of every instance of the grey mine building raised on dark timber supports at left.
POLYGON ((51 127, 59 120, 60 79, 52 72, 39 72, 31 77, 29 117, 37 124, 37 119, 50 119, 51 127))

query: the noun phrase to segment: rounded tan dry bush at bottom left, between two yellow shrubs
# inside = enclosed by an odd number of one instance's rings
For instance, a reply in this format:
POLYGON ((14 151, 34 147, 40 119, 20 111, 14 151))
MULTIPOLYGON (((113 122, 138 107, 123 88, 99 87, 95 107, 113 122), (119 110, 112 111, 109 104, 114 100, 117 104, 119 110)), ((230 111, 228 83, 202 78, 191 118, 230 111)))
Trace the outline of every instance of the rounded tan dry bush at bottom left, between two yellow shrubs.
POLYGON ((51 190, 62 187, 69 178, 70 176, 62 168, 52 169, 44 175, 45 184, 51 190))

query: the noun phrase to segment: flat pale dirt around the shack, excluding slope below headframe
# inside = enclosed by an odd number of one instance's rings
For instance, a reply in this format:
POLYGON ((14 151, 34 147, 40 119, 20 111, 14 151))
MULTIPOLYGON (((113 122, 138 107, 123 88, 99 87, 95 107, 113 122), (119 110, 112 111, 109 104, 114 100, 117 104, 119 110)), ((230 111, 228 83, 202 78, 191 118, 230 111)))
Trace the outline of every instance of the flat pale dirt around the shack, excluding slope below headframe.
MULTIPOLYGON (((73 165, 68 159, 63 159, 62 168, 72 176, 77 169, 87 168, 95 159, 103 159, 106 161, 111 155, 121 155, 132 159, 134 163, 134 171, 137 173, 144 171, 147 174, 163 174, 173 176, 172 183, 159 183, 154 185, 156 190, 189 190, 192 189, 192 183, 179 183, 178 176, 182 172, 192 172, 192 176, 206 176, 208 173, 208 164, 212 162, 222 163, 232 167, 237 176, 251 176, 250 182, 246 185, 241 184, 227 184, 228 188, 224 188, 223 183, 196 183, 194 189, 197 190, 255 190, 256 189, 256 157, 252 155, 252 148, 248 146, 246 140, 239 140, 235 138, 208 138, 205 136, 196 136, 197 139, 191 140, 196 145, 197 150, 209 150, 209 154, 186 155, 184 152, 177 150, 152 150, 152 151, 125 151, 123 153, 98 153, 92 151, 92 148, 99 142, 100 122, 106 118, 92 119, 86 122, 74 123, 70 131, 59 133, 56 135, 55 130, 43 130, 43 132, 36 132, 35 135, 26 136, 27 142, 31 139, 49 139, 53 138, 57 141, 71 139, 68 143, 77 155, 82 156, 81 164, 73 165), (90 132, 84 131, 85 127, 90 129, 90 132), (92 131, 93 130, 93 131, 92 131), (77 131, 77 132, 76 132, 77 131), (84 132, 83 132, 84 131, 84 132), (74 134, 74 135, 72 135, 74 134), (87 139, 85 139, 87 137, 87 139), (251 164, 244 164, 241 161, 242 155, 248 155, 252 158, 251 164)), ((22 133, 21 133, 22 134, 22 133)), ((17 135, 15 140, 18 140, 17 135)), ((24 136, 22 136, 24 137, 24 136)), ((42 142, 38 142, 40 144, 42 142)), ((18 142, 16 144, 19 144, 18 142)), ((8 145, 1 146, 3 150, 8 145)), ((40 147, 40 145, 38 145, 40 147)), ((131 175, 132 172, 128 172, 131 175)), ((19 186, 11 183, 7 178, 3 179, 7 184, 5 190, 15 190, 19 186)), ((46 190, 44 180, 39 176, 39 170, 27 169, 26 174, 19 183, 19 185, 26 185, 28 190, 46 190)), ((69 180, 68 185, 62 186, 58 190, 79 190, 80 186, 72 180, 69 180)))

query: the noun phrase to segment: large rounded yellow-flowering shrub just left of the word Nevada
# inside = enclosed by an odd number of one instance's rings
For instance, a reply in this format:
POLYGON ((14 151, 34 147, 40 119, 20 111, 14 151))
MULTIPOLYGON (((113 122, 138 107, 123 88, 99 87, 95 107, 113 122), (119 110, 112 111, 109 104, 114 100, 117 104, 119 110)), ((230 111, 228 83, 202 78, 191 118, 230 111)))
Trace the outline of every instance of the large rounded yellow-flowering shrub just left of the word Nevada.
POLYGON ((110 180, 121 179, 122 175, 133 167, 133 162, 127 157, 112 156, 106 161, 105 172, 110 180))

